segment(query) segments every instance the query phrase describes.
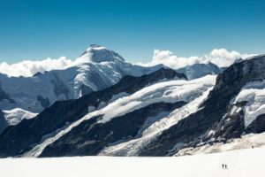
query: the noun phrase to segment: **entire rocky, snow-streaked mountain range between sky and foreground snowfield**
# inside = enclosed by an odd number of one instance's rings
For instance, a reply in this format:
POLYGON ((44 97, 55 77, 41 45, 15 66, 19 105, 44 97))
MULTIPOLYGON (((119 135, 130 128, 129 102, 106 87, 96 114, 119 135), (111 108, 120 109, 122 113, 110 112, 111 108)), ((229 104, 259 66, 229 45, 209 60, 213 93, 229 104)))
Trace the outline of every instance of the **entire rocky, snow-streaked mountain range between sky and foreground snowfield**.
POLYGON ((264 56, 173 70, 91 45, 77 60, 32 77, 0 73, 1 158, 178 156, 244 148, 265 131, 264 56))

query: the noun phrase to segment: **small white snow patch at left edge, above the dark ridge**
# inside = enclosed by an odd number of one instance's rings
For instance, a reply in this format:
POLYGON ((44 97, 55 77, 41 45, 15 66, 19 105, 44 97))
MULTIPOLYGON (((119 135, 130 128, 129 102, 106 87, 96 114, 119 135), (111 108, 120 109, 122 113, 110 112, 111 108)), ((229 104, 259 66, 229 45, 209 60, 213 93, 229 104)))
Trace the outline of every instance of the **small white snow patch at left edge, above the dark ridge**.
POLYGON ((37 116, 37 113, 27 112, 20 108, 15 108, 13 110, 3 111, 4 118, 9 125, 17 125, 22 119, 32 119, 37 116))

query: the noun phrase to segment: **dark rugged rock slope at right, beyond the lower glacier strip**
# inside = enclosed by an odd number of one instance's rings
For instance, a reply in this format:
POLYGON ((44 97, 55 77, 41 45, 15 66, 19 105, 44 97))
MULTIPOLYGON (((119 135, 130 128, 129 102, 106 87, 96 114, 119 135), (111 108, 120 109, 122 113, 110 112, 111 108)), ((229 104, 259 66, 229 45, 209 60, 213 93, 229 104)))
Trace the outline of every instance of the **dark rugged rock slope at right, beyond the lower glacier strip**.
MULTIPOLYGON (((231 99, 239 94, 240 89, 247 82, 263 79, 265 79, 264 56, 231 65, 218 75, 216 87, 210 92, 208 99, 201 104, 201 110, 186 119, 180 120, 177 125, 164 131, 140 155, 170 156, 170 150, 178 142, 186 143, 188 147, 196 146, 199 142, 208 140, 208 131, 212 129, 217 130, 216 138, 229 139, 239 137, 245 131, 242 112, 225 119, 223 119, 223 116, 230 111, 229 104, 231 99), (227 121, 228 119, 230 121, 227 121)), ((263 119, 259 118, 256 121, 263 122, 263 119)), ((252 132, 263 129, 256 124, 252 125, 252 127, 249 129, 252 132)))

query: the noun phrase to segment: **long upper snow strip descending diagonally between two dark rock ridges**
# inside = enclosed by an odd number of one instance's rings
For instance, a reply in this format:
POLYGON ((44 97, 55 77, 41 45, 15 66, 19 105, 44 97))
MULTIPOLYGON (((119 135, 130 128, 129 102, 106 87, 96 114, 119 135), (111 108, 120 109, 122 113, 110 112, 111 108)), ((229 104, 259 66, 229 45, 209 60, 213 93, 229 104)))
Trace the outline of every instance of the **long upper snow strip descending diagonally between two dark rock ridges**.
POLYGON ((103 118, 99 120, 98 123, 105 123, 117 116, 122 116, 128 112, 133 112, 140 108, 146 107, 149 104, 160 102, 175 103, 180 101, 190 103, 198 96, 202 96, 206 91, 208 91, 209 88, 212 88, 215 85, 215 82, 216 76, 208 75, 193 81, 178 80, 159 82, 147 88, 140 89, 140 91, 134 93, 131 96, 118 98, 116 101, 108 104, 100 110, 89 112, 83 118, 72 123, 69 127, 61 130, 59 133, 57 133, 57 135, 50 137, 36 145, 33 150, 28 151, 24 156, 38 157, 45 147, 53 142, 56 142, 63 135, 70 132, 72 127, 79 126, 79 124, 86 119, 103 115, 103 118), (119 109, 117 109, 117 107, 119 109))

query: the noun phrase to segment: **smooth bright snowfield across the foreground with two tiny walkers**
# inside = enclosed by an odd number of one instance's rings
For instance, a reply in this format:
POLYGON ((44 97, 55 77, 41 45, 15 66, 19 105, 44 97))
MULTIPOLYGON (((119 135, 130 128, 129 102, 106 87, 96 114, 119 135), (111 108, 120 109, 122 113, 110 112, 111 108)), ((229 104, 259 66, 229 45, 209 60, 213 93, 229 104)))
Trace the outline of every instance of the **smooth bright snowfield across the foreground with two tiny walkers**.
POLYGON ((0 176, 264 177, 264 159, 265 147, 171 158, 4 158, 0 176))

